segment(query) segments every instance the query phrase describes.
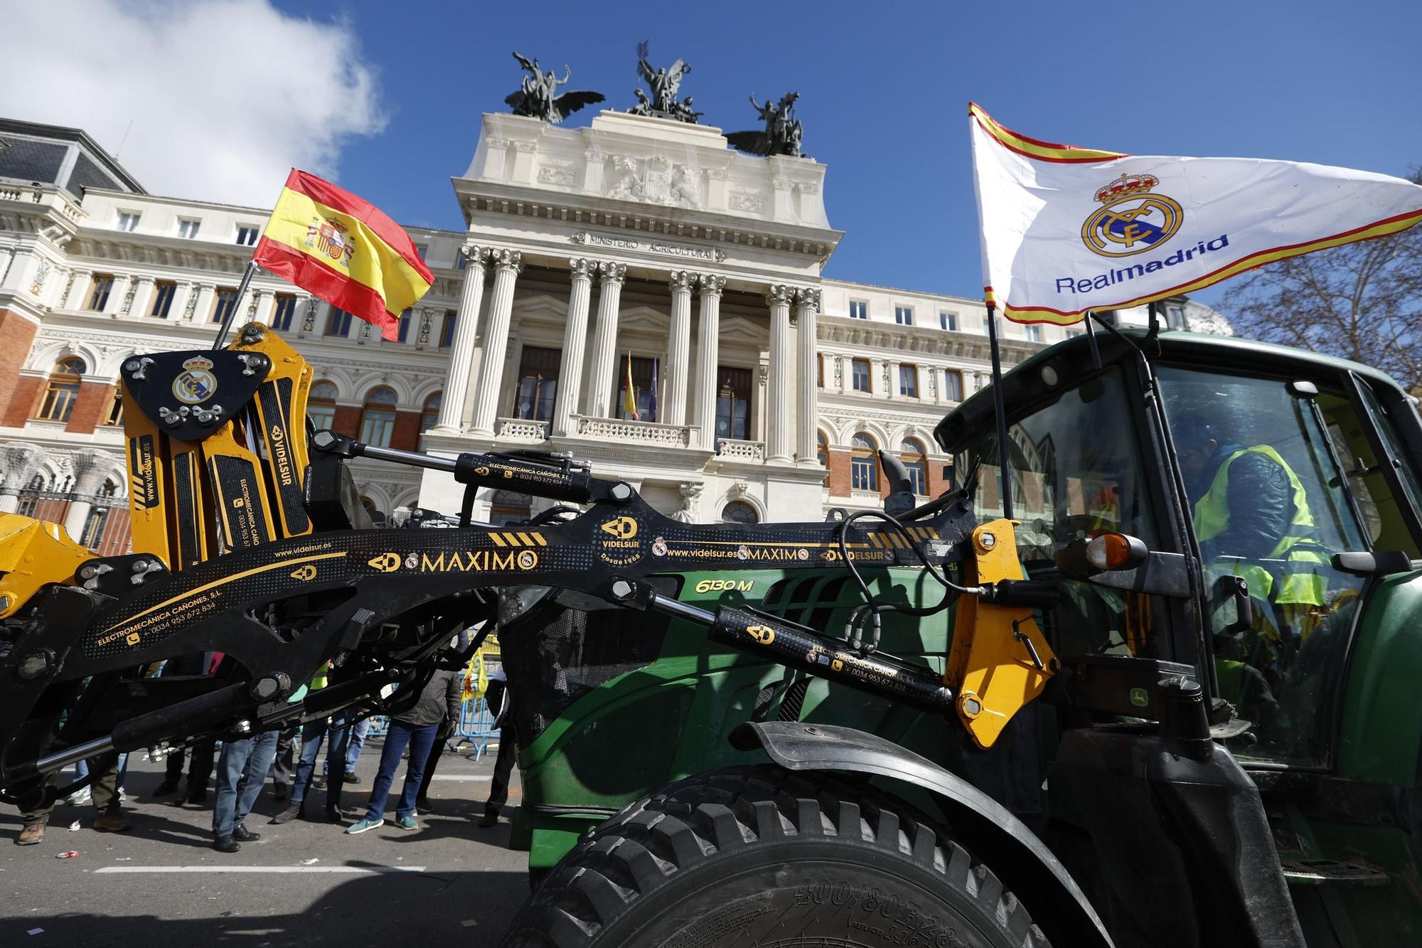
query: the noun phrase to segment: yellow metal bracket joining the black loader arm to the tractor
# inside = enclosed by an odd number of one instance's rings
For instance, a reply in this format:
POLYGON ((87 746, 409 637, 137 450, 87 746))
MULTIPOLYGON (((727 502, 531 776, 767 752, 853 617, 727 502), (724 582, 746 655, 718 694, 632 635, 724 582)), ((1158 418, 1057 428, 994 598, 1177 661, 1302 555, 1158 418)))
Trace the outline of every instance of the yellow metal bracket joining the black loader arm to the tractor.
MULTIPOLYGON (((1017 535, 1010 520, 973 531, 973 557, 964 561, 964 585, 1022 579, 1017 535)), ((991 747, 1012 715, 1035 700, 1057 668, 1032 611, 958 599, 953 649, 943 682, 957 695, 963 726, 978 747, 991 747), (1031 648, 1028 648, 1031 643, 1031 648)))

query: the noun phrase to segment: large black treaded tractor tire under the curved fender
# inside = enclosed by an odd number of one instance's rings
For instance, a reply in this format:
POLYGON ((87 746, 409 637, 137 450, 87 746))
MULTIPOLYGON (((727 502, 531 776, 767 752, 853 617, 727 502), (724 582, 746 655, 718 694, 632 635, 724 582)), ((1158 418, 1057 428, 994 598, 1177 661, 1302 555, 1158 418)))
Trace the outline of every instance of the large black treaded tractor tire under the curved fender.
POLYGON ((1045 948, 993 871, 866 784, 775 766, 700 774, 584 837, 505 948, 1045 948))

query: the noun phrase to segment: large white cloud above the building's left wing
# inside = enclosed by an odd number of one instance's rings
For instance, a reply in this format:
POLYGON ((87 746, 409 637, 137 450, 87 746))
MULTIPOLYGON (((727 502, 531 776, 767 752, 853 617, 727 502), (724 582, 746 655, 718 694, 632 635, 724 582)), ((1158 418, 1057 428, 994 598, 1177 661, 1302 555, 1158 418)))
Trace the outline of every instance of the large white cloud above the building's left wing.
POLYGON ((3 0, 0 34, 0 115, 122 142, 152 194, 270 206, 385 121, 354 28, 267 0, 3 0))

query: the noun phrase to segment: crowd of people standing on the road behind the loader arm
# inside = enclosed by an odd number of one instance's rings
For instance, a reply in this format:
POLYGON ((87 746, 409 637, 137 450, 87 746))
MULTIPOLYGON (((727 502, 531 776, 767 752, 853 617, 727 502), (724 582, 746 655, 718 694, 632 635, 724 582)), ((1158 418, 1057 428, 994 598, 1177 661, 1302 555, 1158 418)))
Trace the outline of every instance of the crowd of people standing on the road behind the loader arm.
MULTIPOLYGON (((166 673, 203 673, 219 668, 220 653, 193 655, 173 659, 166 673)), ((297 697, 320 690, 328 683, 328 668, 316 678, 297 697)), ((256 840, 260 833, 247 827, 252 807, 272 777, 272 796, 286 806, 272 817, 273 824, 290 820, 326 820, 343 824, 347 818, 356 821, 346 827, 348 834, 360 834, 385 824, 400 762, 407 760, 404 784, 395 801, 394 826, 419 830, 417 816, 429 813, 429 781, 434 779, 439 757, 449 746, 461 720, 461 709, 466 696, 465 676, 454 670, 437 670, 425 683, 419 699, 405 712, 388 719, 380 764, 371 784, 364 810, 343 807, 343 793, 348 786, 360 784, 356 764, 360 760, 371 720, 353 720, 347 712, 337 712, 286 732, 262 732, 245 737, 230 737, 220 742, 198 743, 189 749, 176 749, 166 754, 162 783, 154 789, 155 797, 173 797, 176 804, 205 804, 209 799, 208 784, 213 781, 212 796, 212 847, 219 853, 236 853, 242 843, 256 840), (297 753, 297 744, 300 752, 297 753), (220 752, 219 752, 220 746, 220 752), (326 759, 317 769, 321 747, 326 759), (185 773, 186 770, 186 773, 185 773), (311 791, 326 793, 324 807, 309 811, 311 791), (358 814, 358 816, 357 816, 358 814)), ((498 716, 505 709, 505 688, 502 673, 495 673, 488 682, 486 700, 498 716)), ((498 719, 496 722, 498 723, 498 719)), ((77 764, 77 777, 88 780, 87 786, 65 799, 70 804, 92 803, 97 816, 92 827, 98 833, 122 833, 131 828, 122 816, 122 784, 127 773, 128 754, 109 753, 77 764)), ((485 801, 481 827, 492 827, 499 820, 499 811, 508 801, 508 781, 513 767, 512 742, 499 742, 495 774, 491 793, 485 801)), ((55 777, 51 776, 51 780, 55 777)), ((48 806, 21 813, 21 828, 16 837, 18 846, 36 846, 44 841, 46 828, 58 800, 48 806)))

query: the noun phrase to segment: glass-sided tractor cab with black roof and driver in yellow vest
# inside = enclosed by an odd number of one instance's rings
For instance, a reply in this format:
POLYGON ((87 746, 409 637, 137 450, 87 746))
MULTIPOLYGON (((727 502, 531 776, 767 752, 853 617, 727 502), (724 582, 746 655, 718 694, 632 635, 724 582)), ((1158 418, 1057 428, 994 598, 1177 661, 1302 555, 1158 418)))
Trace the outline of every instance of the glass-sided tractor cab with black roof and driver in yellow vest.
POLYGON ((1024 572, 1062 592, 1038 619, 1068 713, 1156 717, 1140 676, 1098 669, 1187 666, 1261 793, 1305 931, 1413 944, 1422 827, 1398 814, 1422 794, 1415 401, 1374 369, 1263 343, 1096 342, 1004 377, 1005 453, 990 390, 936 433, 980 521, 1003 514, 1005 454, 1024 572), (1111 551, 1128 568, 1099 569, 1111 551))

